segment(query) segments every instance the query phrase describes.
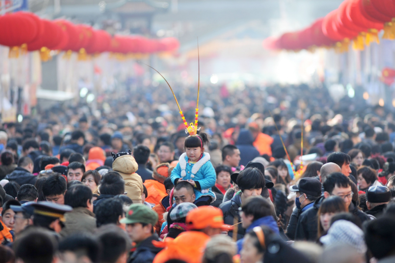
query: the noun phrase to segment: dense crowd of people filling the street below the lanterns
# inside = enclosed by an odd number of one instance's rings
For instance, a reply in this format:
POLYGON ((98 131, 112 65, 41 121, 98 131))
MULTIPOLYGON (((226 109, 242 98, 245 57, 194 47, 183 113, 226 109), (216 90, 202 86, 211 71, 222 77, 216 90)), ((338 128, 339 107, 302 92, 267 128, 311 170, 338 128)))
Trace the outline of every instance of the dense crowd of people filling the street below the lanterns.
POLYGON ((209 86, 188 134, 164 87, 122 93, 2 123, 0 263, 395 262, 391 111, 209 86))

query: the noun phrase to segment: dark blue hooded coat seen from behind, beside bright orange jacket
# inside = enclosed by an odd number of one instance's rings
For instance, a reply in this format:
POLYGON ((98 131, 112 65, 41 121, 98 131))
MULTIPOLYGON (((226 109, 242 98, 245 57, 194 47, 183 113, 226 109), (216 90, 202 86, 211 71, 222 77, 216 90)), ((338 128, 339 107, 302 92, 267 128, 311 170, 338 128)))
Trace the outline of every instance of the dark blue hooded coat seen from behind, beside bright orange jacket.
POLYGON ((248 162, 252 161, 255 157, 259 157, 259 151, 252 145, 254 138, 248 130, 241 130, 239 138, 237 139, 237 148, 240 150, 240 165, 246 166, 248 162))

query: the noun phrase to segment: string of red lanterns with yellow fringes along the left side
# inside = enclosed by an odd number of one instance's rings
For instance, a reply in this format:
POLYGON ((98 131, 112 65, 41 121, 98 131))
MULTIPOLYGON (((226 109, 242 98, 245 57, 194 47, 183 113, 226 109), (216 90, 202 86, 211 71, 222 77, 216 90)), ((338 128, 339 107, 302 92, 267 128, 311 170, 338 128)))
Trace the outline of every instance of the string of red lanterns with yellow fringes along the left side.
POLYGON ((173 37, 148 39, 135 35, 111 36, 104 30, 95 30, 84 24, 73 24, 64 19, 40 19, 30 12, 15 12, 0 16, 0 45, 10 47, 10 56, 20 51, 41 52, 41 58, 50 58, 51 50, 80 56, 113 52, 117 54, 153 54, 173 51, 179 41, 173 37))

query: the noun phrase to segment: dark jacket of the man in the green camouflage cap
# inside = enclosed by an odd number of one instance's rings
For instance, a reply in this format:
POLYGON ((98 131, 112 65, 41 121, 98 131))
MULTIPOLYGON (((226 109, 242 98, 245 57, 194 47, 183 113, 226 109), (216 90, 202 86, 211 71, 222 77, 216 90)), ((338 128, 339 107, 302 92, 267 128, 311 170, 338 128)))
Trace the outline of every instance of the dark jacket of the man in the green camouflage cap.
POLYGON ((130 255, 128 263, 152 263, 156 254, 162 250, 152 244, 152 241, 159 241, 158 235, 154 234, 149 238, 141 241, 136 250, 130 255))

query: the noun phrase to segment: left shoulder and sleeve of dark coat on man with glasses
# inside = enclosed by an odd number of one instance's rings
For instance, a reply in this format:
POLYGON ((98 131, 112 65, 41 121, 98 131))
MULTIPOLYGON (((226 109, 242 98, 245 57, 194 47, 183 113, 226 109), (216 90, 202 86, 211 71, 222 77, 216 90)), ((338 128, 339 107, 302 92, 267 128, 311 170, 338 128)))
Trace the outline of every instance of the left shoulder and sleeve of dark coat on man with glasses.
POLYGON ((314 202, 313 207, 301 213, 299 220, 297 220, 295 241, 316 241, 318 232, 317 213, 323 200, 324 196, 321 196, 314 202))

